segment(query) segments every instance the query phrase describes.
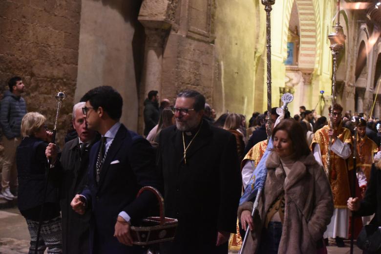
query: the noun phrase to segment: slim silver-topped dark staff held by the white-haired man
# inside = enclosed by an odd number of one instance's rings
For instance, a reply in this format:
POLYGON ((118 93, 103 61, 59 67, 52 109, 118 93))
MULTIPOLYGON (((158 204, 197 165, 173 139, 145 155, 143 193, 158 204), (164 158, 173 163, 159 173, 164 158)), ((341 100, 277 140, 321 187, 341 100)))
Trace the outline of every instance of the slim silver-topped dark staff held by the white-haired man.
MULTIPOLYGON (((56 120, 54 122, 54 129, 53 129, 53 135, 52 135, 52 143, 54 144, 56 141, 56 133, 57 133, 57 123, 58 123, 58 116, 60 115, 60 109, 62 106, 62 102, 65 99, 65 94, 63 92, 58 92, 56 95, 56 100, 57 100, 57 112, 56 112, 56 120)), ((42 199, 42 205, 41 205, 41 210, 40 210, 40 220, 39 220, 39 227, 37 230, 37 238, 36 238, 36 248, 34 249, 34 253, 38 253, 38 243, 40 241, 40 234, 41 234, 41 226, 42 226, 42 215, 43 215, 43 205, 46 200, 46 190, 47 190, 47 185, 48 185, 48 179, 49 179, 49 169, 51 166, 51 160, 50 158, 48 159, 48 165, 45 169, 45 186, 43 188, 43 199, 42 199)))

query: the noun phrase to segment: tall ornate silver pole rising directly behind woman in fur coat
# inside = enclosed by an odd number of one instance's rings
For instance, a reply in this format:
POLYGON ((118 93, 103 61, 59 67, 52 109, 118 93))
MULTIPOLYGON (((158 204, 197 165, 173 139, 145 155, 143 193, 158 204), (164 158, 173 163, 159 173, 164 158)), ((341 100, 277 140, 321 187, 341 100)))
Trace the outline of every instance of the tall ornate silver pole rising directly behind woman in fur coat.
POLYGON ((271 124, 271 11, 275 0, 261 0, 266 11, 266 53, 267 53, 267 116, 266 116, 266 132, 267 139, 270 139, 272 134, 271 124))

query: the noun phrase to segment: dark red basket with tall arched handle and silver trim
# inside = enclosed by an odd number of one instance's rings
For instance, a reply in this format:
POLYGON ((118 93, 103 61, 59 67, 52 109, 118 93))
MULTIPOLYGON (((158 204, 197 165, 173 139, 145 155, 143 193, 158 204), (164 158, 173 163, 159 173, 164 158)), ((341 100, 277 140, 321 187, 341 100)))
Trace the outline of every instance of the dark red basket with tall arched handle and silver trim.
POLYGON ((147 217, 141 221, 139 227, 131 226, 133 244, 147 246, 172 241, 178 224, 177 219, 164 217, 164 199, 159 191, 146 186, 140 189, 137 196, 143 191, 151 191, 156 195, 160 205, 160 217, 147 217))

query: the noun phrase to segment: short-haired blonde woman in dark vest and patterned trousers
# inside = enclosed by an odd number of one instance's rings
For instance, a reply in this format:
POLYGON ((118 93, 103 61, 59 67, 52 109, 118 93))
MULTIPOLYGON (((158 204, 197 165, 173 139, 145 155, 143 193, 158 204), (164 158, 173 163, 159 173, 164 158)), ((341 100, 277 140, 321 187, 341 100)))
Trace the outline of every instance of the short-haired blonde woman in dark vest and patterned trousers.
MULTIPOLYGON (((44 200, 45 169, 47 160, 45 149, 51 142, 52 133, 47 131, 46 118, 37 112, 29 112, 21 120, 20 146, 16 150, 19 179, 18 207, 26 219, 30 234, 29 253, 34 253, 36 244, 39 253, 48 248, 47 253, 62 253, 61 215, 58 189, 52 179, 48 182, 44 200), (36 243, 37 229, 42 209, 40 241, 36 243)), ((49 174, 48 174, 49 175, 49 174)))

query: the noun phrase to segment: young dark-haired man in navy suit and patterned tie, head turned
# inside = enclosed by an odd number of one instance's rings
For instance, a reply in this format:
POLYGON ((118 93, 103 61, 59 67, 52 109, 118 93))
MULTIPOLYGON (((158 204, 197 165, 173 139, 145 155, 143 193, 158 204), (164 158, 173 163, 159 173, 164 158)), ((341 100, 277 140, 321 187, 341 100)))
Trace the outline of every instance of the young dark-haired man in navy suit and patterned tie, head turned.
POLYGON ((153 148, 119 122, 123 100, 111 86, 96 87, 81 101, 88 128, 102 137, 90 150, 88 187, 71 206, 80 214, 91 209, 90 253, 141 254, 145 250, 132 245, 130 224, 157 204, 151 192, 136 197, 144 186, 158 188, 153 148))

